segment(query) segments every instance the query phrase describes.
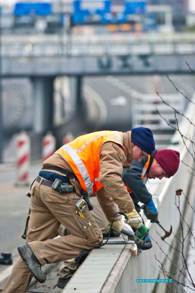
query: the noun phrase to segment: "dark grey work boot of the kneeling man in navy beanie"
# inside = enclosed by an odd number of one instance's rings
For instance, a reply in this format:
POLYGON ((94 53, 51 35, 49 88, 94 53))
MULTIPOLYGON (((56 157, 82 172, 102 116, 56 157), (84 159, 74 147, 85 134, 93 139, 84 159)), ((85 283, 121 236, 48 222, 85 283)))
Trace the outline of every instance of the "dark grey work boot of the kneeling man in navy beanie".
POLYGON ((41 264, 39 263, 39 260, 33 253, 28 243, 19 246, 18 251, 20 253, 22 260, 25 261, 34 278, 36 278, 38 282, 44 283, 46 281, 46 276, 41 271, 41 264))

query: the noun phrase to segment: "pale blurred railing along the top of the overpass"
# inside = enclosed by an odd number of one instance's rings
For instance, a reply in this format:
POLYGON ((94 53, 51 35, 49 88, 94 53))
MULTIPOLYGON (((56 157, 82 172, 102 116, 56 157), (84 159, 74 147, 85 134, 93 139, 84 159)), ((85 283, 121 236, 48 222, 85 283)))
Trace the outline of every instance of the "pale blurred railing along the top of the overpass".
POLYGON ((172 55, 194 54, 195 35, 142 35, 131 36, 43 36, 42 40, 36 36, 23 40, 21 36, 3 36, 1 44, 2 57, 78 57, 102 55, 172 55))

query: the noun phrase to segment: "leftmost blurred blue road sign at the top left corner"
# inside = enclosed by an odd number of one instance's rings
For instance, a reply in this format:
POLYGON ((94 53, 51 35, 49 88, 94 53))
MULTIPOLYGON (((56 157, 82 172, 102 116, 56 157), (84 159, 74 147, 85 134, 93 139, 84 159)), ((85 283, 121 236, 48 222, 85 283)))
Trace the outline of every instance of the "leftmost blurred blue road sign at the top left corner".
POLYGON ((15 16, 24 15, 49 15, 52 13, 50 3, 16 3, 14 9, 15 16))

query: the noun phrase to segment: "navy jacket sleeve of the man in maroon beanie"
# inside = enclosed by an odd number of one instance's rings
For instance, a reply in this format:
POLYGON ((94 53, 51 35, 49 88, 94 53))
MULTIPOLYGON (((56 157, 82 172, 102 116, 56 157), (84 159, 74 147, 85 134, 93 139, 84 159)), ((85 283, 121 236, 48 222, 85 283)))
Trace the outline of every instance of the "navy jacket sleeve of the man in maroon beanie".
POLYGON ((122 175, 124 183, 143 204, 149 203, 152 199, 152 194, 148 191, 141 178, 142 169, 145 163, 145 158, 143 158, 141 162, 133 161, 131 168, 129 170, 124 169, 122 175))

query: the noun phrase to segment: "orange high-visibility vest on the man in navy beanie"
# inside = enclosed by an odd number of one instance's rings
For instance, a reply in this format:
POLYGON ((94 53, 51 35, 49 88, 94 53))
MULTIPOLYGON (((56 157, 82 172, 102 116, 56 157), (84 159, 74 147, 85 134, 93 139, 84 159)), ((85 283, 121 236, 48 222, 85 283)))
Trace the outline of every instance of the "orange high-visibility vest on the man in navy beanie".
POLYGON ((103 187, 98 180, 99 153, 101 146, 110 141, 119 145, 126 155, 126 149, 122 144, 123 133, 110 130, 79 136, 55 152, 69 164, 77 176, 81 188, 87 191, 89 196, 103 187))

